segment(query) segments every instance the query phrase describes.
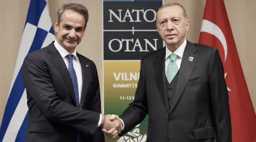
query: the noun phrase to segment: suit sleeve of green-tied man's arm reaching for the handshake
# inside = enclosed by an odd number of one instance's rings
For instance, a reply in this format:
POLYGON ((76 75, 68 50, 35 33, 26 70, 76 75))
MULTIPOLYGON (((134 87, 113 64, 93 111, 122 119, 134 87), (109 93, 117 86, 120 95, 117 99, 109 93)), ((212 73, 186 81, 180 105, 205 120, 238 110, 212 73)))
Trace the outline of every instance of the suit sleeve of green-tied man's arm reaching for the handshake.
POLYGON ((134 97, 134 101, 129 104, 120 118, 124 121, 124 130, 119 136, 123 136, 133 129, 137 124, 141 123, 148 114, 148 101, 146 96, 146 79, 144 73, 144 60, 141 59, 141 71, 139 82, 134 97))

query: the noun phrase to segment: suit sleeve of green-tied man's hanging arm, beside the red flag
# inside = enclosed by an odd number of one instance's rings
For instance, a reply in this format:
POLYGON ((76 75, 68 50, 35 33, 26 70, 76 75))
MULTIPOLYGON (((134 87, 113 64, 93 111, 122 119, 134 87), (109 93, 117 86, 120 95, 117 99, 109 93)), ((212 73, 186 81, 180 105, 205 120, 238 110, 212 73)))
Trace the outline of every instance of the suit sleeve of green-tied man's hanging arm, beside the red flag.
POLYGON ((214 48, 209 63, 209 90, 218 142, 231 142, 231 116, 224 69, 218 49, 214 48))

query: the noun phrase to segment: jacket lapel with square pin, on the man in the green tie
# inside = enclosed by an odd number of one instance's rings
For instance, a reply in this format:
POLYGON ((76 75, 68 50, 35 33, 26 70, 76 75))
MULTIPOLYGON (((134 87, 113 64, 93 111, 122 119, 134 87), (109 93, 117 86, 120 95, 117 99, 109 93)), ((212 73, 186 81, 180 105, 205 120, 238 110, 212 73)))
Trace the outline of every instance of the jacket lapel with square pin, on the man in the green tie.
POLYGON ((173 111, 173 108, 176 106, 178 100, 182 96, 183 90, 185 89, 187 82, 189 81, 190 75, 192 74, 195 63, 197 62, 197 50, 193 43, 187 41, 187 45, 185 47, 183 57, 182 57, 182 64, 180 65, 180 71, 178 74, 177 85, 175 89, 175 96, 173 98, 172 106, 170 112, 173 111), (192 57, 193 60, 189 61, 189 57, 192 57))

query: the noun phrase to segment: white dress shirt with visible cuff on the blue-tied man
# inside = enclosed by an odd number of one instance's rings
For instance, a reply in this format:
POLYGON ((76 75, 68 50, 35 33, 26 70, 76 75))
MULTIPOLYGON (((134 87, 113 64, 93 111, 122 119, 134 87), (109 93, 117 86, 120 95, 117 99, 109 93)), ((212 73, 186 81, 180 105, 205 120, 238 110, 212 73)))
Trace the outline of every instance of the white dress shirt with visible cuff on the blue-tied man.
MULTIPOLYGON (((54 41, 54 46, 58 50, 58 52, 61 54, 61 57, 63 58, 68 70, 69 59, 67 58, 67 55, 69 55, 69 52, 67 52, 67 50, 64 47, 59 45, 59 43, 56 40, 54 41)), ((74 55, 73 67, 74 67, 74 71, 76 72, 76 77, 78 78, 79 102, 81 102, 81 93, 82 93, 82 86, 83 86, 83 74, 82 74, 81 63, 79 62, 79 58, 76 55, 76 49, 71 55, 74 55)), ((98 121, 98 126, 100 126, 101 123, 102 123, 102 114, 100 114, 100 120, 98 121)))

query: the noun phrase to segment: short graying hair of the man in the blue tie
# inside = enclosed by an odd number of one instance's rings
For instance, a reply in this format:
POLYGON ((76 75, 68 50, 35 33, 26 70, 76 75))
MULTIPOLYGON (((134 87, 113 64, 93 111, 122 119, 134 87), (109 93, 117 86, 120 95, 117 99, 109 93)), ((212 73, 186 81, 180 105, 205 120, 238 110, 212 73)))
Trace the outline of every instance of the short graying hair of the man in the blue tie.
POLYGON ((85 19, 85 25, 84 28, 86 27, 89 19, 89 14, 88 14, 88 9, 86 9, 82 4, 76 4, 76 3, 67 3, 61 6, 61 8, 58 9, 57 11, 57 21, 58 24, 61 23, 61 16, 66 10, 73 10, 81 15, 84 16, 85 19))

